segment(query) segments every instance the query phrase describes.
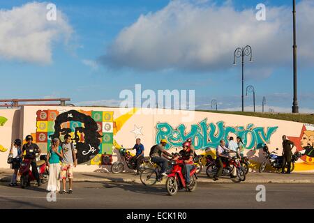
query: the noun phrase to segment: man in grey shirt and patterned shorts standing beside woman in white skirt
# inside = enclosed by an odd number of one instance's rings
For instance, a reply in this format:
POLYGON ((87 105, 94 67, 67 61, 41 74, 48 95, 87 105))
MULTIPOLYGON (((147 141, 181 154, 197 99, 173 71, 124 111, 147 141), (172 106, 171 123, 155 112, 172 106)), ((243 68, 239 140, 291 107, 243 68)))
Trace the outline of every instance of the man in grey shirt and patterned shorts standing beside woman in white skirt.
POLYGON ((66 194, 66 177, 68 176, 69 190, 68 193, 73 193, 73 169, 77 166, 76 154, 70 134, 64 136, 64 142, 61 149, 61 178, 63 191, 61 194, 66 194))

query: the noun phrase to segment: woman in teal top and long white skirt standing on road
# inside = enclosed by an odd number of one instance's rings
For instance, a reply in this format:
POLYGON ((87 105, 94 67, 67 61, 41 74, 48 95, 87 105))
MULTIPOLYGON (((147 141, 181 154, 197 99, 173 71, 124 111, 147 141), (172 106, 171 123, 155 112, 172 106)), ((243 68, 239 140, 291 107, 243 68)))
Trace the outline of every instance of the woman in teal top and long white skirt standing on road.
POLYGON ((60 139, 54 138, 50 152, 47 155, 47 166, 49 167, 49 180, 47 191, 59 192, 60 191, 60 157, 61 155, 60 139))

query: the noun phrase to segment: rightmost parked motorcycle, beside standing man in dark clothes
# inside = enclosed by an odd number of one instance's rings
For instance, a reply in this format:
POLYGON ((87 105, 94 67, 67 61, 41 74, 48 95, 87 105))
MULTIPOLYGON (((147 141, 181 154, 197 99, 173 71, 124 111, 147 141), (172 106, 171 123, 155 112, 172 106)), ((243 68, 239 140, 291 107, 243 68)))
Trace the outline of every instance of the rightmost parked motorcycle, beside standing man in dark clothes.
MULTIPOLYGON (((279 149, 276 148, 276 151, 278 150, 279 149)), ((263 151, 264 153, 266 153, 266 155, 265 155, 264 160, 260 164, 260 168, 259 168, 260 173, 262 173, 265 170, 268 162, 271 165, 271 167, 276 169, 277 172, 281 171, 283 167, 283 156, 278 155, 278 153, 276 153, 275 151, 270 153, 269 148, 267 146, 264 146, 263 151)), ((297 162, 297 160, 299 160, 301 156, 302 154, 300 152, 296 152, 292 155, 290 172, 294 170, 294 162, 297 162)), ((287 171, 287 164, 285 166, 285 171, 287 171)))

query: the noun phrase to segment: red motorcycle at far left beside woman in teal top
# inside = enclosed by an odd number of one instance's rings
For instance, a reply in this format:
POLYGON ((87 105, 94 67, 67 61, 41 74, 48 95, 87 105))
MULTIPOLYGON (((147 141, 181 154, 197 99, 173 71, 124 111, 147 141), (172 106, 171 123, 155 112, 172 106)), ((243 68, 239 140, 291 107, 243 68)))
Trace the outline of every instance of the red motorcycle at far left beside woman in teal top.
MULTIPOLYGON (((30 153, 33 153, 30 151, 30 153)), ((20 185, 22 188, 25 188, 29 185, 29 182, 36 180, 36 178, 33 176, 33 172, 31 171, 31 161, 38 156, 38 153, 35 152, 33 155, 25 155, 22 164, 19 170, 20 174, 20 185)), ((47 157, 46 155, 41 155, 40 160, 36 161, 38 174, 40 178, 40 183, 47 183, 49 172, 47 171, 47 164, 46 161, 47 157)))

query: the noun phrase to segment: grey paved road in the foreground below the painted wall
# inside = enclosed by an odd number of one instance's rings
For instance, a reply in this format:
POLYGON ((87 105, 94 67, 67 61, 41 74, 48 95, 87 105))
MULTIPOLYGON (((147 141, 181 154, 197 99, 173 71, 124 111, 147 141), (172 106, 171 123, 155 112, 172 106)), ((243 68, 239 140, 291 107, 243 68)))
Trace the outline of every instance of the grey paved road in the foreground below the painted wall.
POLYGON ((193 193, 170 197, 162 185, 75 183, 73 194, 57 194, 57 202, 48 202, 45 187, 22 190, 0 183, 0 208, 314 208, 313 184, 265 184, 267 201, 260 203, 256 186, 199 183, 193 193))

